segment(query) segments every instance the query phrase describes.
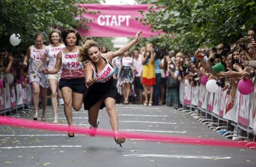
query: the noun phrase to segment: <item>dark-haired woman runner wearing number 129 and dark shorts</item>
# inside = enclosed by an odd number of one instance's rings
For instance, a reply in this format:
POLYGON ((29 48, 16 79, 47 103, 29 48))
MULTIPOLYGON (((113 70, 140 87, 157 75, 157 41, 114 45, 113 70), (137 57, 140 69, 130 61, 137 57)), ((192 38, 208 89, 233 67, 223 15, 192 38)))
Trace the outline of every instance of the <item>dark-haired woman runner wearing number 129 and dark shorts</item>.
POLYGON ((62 65, 61 79, 59 89, 61 90, 64 100, 64 112, 69 124, 69 137, 74 137, 72 107, 79 111, 82 106, 83 93, 86 91, 84 79, 85 64, 78 62, 79 41, 81 36, 74 29, 66 29, 61 33, 61 37, 66 47, 57 55, 55 67, 52 69, 45 68, 45 74, 58 73, 62 65))

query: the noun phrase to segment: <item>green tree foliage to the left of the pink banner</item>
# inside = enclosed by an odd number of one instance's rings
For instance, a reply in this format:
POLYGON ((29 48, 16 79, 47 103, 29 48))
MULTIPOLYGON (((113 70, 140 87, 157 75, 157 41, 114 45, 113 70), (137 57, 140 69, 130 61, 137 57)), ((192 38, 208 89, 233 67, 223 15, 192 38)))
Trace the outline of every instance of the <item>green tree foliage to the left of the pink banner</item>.
POLYGON ((47 34, 53 26, 60 29, 76 28, 84 19, 74 19, 86 9, 78 9, 79 3, 99 3, 97 0, 0 0, 0 45, 11 50, 9 37, 20 34, 22 42, 15 48, 22 52, 34 43, 34 35, 47 34))

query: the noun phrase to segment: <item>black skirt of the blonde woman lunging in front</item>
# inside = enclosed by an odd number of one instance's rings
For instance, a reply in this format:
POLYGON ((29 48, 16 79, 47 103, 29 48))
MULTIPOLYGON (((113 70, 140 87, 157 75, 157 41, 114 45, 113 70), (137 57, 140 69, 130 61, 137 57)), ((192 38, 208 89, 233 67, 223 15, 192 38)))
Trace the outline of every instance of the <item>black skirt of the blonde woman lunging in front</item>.
MULTIPOLYGON (((117 95, 117 87, 114 83, 113 77, 104 83, 95 82, 89 86, 88 91, 84 95, 83 104, 84 110, 90 110, 100 99, 113 98, 117 95)), ((100 109, 104 108, 105 104, 102 102, 100 109)))

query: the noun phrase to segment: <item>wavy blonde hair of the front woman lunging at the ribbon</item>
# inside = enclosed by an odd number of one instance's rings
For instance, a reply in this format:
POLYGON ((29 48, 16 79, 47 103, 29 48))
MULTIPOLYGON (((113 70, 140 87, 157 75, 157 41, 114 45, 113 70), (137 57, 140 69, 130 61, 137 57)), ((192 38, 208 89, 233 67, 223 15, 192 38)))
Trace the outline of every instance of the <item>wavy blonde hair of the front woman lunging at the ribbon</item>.
POLYGON ((80 51, 79 51, 79 55, 78 55, 78 61, 90 60, 89 54, 88 54, 88 50, 91 47, 98 47, 98 49, 100 51, 100 46, 99 46, 99 44, 96 41, 94 41, 94 40, 87 40, 86 43, 84 43, 80 47, 80 51))

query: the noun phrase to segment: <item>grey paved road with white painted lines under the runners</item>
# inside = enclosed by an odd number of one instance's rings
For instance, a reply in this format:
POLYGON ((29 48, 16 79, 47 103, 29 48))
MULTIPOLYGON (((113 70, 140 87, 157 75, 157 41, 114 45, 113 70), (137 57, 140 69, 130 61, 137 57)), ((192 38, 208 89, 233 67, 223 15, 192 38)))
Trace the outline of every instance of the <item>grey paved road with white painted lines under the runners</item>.
MULTIPOLYGON (((117 105, 122 131, 225 139, 187 113, 171 107, 117 105)), ((47 122, 53 121, 51 107, 47 122)), ((67 124, 63 106, 58 106, 59 123, 67 124)), ((87 112, 73 112, 74 124, 88 125, 87 112)), ((29 115, 25 118, 32 118, 29 115)), ((99 113, 99 128, 111 129, 108 115, 99 113)), ((256 152, 197 145, 129 139, 123 148, 113 138, 90 137, 0 126, 0 166, 255 166, 256 152)), ((228 140, 228 139, 227 139, 228 140)))

